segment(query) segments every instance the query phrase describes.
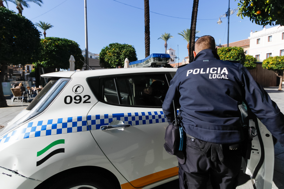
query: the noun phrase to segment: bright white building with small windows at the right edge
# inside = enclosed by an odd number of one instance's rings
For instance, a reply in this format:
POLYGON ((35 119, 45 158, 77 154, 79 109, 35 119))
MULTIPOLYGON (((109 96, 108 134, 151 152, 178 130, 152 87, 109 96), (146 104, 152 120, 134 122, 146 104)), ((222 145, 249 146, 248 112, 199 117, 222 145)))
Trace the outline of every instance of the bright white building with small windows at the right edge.
POLYGON ((252 32, 250 39, 249 55, 259 62, 270 56, 284 56, 284 27, 275 26, 263 28, 261 31, 252 32))

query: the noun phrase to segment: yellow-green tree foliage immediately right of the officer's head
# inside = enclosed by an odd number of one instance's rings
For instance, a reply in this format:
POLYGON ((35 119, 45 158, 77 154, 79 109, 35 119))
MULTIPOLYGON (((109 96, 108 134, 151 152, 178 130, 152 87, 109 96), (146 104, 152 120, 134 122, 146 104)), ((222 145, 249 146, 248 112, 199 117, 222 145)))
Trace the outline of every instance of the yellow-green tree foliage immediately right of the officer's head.
POLYGON ((217 53, 221 60, 237 60, 245 64, 246 56, 242 47, 222 47, 218 48, 217 53))

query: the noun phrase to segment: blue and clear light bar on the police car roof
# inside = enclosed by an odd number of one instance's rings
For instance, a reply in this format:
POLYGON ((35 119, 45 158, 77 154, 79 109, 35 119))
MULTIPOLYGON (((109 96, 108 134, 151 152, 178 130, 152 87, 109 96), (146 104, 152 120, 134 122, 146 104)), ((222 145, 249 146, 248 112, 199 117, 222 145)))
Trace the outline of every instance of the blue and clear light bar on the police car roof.
POLYGON ((165 65, 170 62, 169 54, 150 54, 142 60, 137 60, 129 63, 129 67, 151 67, 151 64, 155 65, 165 65))

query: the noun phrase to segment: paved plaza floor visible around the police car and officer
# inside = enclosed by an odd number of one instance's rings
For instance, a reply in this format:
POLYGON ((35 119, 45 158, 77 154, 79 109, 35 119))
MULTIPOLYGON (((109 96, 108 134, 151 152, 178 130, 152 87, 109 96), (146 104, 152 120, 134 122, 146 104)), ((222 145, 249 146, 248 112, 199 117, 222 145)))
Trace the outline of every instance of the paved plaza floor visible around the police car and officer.
MULTIPOLYGON (((271 99, 276 102, 281 112, 284 112, 284 91, 278 91, 278 87, 267 87, 265 90, 268 92, 271 99)), ((7 126, 18 113, 27 108, 29 103, 14 102, 7 100, 9 107, 0 108, 0 125, 7 126)), ((1 132, 2 129, 0 129, 1 132)), ((284 189, 284 148, 277 143, 274 147, 274 173, 273 173, 273 189, 284 189)), ((178 180, 166 183, 155 189, 178 189, 178 180)), ((212 187, 208 186, 208 189, 212 187)), ((239 185, 237 189, 253 189, 250 177, 244 173, 240 173, 239 185)))

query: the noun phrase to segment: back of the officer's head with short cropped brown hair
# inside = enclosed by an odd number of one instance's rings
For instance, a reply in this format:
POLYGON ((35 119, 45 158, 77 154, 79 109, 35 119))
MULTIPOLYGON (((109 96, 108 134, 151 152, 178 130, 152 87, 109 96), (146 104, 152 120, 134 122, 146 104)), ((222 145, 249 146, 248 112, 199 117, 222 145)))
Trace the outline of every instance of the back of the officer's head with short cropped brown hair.
POLYGON ((210 35, 199 37, 195 42, 194 50, 196 54, 204 49, 216 49, 215 39, 210 35))

